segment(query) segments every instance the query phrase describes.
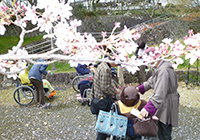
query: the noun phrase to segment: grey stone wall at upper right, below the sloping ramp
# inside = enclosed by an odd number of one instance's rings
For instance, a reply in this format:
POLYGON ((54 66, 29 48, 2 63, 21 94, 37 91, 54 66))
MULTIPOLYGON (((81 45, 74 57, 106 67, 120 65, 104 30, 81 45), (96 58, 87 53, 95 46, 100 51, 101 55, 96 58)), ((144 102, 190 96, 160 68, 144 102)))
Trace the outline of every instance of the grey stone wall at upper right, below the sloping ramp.
MULTIPOLYGON (((195 21, 183 21, 183 20, 170 20, 163 22, 157 26, 160 32, 161 39, 171 38, 173 40, 183 39, 188 35, 188 31, 193 29, 195 33, 200 32, 199 28, 200 19, 195 21)), ((138 41, 147 42, 148 45, 153 45, 158 40, 158 34, 155 28, 149 28, 141 34, 138 41)))

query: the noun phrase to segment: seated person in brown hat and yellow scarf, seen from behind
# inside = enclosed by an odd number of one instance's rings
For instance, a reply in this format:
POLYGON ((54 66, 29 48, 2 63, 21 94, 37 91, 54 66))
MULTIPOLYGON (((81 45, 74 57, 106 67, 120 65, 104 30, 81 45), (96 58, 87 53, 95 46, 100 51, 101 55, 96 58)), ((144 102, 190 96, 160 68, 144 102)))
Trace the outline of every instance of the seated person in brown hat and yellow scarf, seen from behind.
POLYGON ((131 139, 137 139, 141 136, 135 135, 133 129, 134 119, 137 117, 131 114, 132 108, 138 109, 139 111, 147 104, 143 99, 140 99, 140 95, 134 86, 124 86, 121 89, 118 101, 116 101, 119 114, 128 118, 127 132, 126 135, 131 139))

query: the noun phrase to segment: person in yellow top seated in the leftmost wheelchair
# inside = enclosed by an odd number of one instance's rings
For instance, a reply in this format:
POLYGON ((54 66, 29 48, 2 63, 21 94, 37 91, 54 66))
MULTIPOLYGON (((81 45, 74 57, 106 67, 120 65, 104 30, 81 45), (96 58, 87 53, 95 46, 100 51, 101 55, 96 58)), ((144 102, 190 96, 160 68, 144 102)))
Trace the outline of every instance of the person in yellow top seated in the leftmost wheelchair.
MULTIPOLYGON (((21 71, 19 73, 19 80, 20 80, 21 84, 30 86, 32 89, 34 89, 33 85, 31 84, 30 80, 28 79, 28 74, 29 74, 28 68, 26 68, 24 71, 21 71)), ((49 83, 48 80, 42 79, 42 82, 43 82, 43 87, 44 87, 44 91, 45 91, 45 96, 48 99, 51 99, 56 94, 55 89, 52 87, 52 85, 49 83)))

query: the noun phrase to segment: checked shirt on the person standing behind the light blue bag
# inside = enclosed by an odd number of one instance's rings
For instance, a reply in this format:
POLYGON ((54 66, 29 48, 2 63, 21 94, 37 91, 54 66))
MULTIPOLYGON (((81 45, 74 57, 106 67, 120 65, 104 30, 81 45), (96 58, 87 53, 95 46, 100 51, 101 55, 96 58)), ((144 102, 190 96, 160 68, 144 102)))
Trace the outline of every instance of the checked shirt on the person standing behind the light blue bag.
POLYGON ((101 63, 94 74, 94 97, 106 98, 117 93, 116 89, 111 84, 112 72, 108 63, 101 63))

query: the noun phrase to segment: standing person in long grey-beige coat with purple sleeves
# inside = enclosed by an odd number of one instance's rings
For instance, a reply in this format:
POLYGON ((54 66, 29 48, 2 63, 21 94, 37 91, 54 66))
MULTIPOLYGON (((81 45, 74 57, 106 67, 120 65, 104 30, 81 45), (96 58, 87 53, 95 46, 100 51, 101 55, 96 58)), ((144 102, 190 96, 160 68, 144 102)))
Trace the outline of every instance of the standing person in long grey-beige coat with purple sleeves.
MULTIPOLYGON (((154 60, 161 54, 155 53, 155 48, 145 51, 154 54, 154 60)), ((136 89, 144 94, 149 89, 153 89, 153 95, 141 110, 142 116, 151 114, 159 118, 158 138, 160 140, 171 140, 172 127, 178 126, 179 93, 176 73, 168 61, 159 60, 155 62, 152 76, 138 86, 136 89)))

